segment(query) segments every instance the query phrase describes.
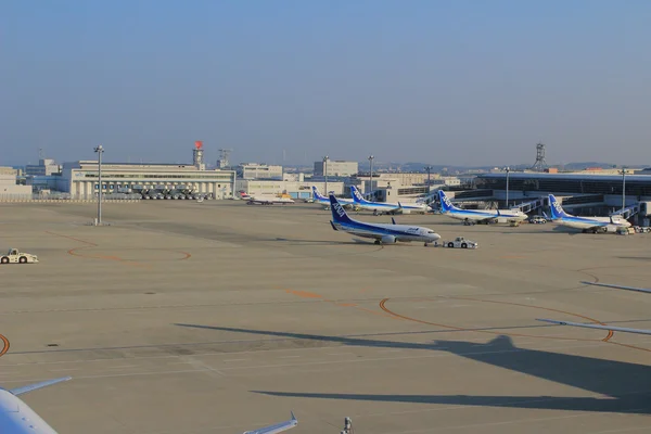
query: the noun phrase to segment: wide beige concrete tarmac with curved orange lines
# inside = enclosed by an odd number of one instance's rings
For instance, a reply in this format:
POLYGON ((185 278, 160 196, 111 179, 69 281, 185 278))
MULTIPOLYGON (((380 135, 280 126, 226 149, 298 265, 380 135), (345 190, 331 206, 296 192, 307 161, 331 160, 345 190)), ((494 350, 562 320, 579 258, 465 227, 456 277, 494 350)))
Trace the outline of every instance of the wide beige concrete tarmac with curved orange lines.
MULTIPOLYGON (((477 250, 375 245, 318 205, 1 204, 0 385, 66 434, 649 430, 651 235, 397 216, 477 250)), ((366 221, 390 217, 360 214, 366 221)))

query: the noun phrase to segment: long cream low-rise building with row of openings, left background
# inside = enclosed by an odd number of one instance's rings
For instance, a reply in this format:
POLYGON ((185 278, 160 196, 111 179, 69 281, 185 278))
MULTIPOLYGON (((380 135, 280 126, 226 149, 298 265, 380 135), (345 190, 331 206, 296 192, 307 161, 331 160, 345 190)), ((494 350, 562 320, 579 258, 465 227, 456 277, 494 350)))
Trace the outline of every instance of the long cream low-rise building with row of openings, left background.
MULTIPOLYGON (((97 161, 64 163, 59 190, 72 199, 93 199, 99 184, 97 161)), ((186 164, 103 163, 102 192, 168 194, 209 193, 213 199, 231 197, 235 183, 233 170, 205 170, 186 164)))

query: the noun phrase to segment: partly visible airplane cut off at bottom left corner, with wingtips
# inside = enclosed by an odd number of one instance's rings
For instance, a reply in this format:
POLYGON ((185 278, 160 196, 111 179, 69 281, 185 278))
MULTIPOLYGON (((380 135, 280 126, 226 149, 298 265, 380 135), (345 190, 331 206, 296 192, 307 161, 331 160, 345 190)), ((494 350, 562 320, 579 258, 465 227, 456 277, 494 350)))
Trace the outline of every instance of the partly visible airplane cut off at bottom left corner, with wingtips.
MULTIPOLYGON (((0 433, 2 434, 58 434, 40 416, 36 413, 20 395, 42 387, 51 386, 72 376, 48 380, 23 387, 5 390, 0 387, 0 433)), ((292 418, 285 422, 265 426, 258 430, 245 431, 244 434, 276 434, 298 425, 298 420, 292 412, 292 418)))

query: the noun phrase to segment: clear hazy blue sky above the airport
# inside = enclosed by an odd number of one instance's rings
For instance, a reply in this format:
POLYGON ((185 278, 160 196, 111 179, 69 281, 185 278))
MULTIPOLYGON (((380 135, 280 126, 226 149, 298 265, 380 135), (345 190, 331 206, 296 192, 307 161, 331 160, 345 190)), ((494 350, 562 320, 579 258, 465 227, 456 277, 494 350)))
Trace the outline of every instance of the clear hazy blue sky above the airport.
POLYGON ((647 0, 7 1, 0 165, 651 164, 647 0))

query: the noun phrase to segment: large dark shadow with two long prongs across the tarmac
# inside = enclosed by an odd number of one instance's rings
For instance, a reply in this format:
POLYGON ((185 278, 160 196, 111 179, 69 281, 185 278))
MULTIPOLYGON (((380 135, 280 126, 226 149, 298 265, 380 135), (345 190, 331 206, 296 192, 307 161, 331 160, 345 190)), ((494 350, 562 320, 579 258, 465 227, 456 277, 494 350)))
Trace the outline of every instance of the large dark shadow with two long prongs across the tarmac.
POLYGON ((464 341, 434 341, 431 344, 420 344, 199 324, 177 323, 176 326, 276 337, 326 341, 350 346, 448 352, 459 357, 464 357, 477 362, 521 372, 554 383, 577 387, 593 394, 599 394, 601 396, 562 397, 538 395, 381 395, 252 391, 265 395, 384 403, 419 403, 569 411, 627 412, 639 414, 648 414, 651 412, 651 367, 585 356, 551 353, 540 349, 519 348, 513 345, 511 337, 507 335, 499 335, 485 344, 464 341))

